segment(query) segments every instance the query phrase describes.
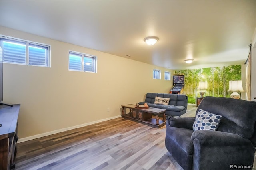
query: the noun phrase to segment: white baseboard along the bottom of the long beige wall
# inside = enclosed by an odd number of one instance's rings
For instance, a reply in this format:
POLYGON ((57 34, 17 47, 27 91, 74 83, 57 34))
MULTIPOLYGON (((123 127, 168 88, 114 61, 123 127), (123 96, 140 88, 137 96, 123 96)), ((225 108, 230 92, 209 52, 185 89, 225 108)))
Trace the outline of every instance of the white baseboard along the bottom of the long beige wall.
POLYGON ((62 128, 62 129, 54 130, 54 131, 51 131, 51 132, 36 134, 36 135, 34 135, 34 136, 29 136, 29 137, 26 137, 26 138, 20 138, 20 139, 18 140, 18 143, 26 142, 26 141, 28 141, 28 140, 33 140, 33 139, 36 139, 36 138, 41 138, 41 137, 44 137, 44 136, 49 136, 49 135, 56 134, 56 133, 60 133, 60 132, 65 132, 65 131, 67 131, 67 130, 72 130, 72 129, 75 129, 75 128, 85 127, 85 126, 88 126, 88 125, 92 125, 92 124, 94 124, 94 123, 100 123, 100 122, 108 121, 108 120, 110 120, 110 119, 115 119, 115 118, 118 118, 118 117, 121 117, 121 115, 114 116, 114 117, 109 117, 109 118, 106 118, 106 119, 100 119, 100 120, 98 120, 98 121, 93 121, 93 122, 89 122, 89 123, 84 123, 84 124, 76 125, 76 126, 73 126, 73 127, 62 128))

